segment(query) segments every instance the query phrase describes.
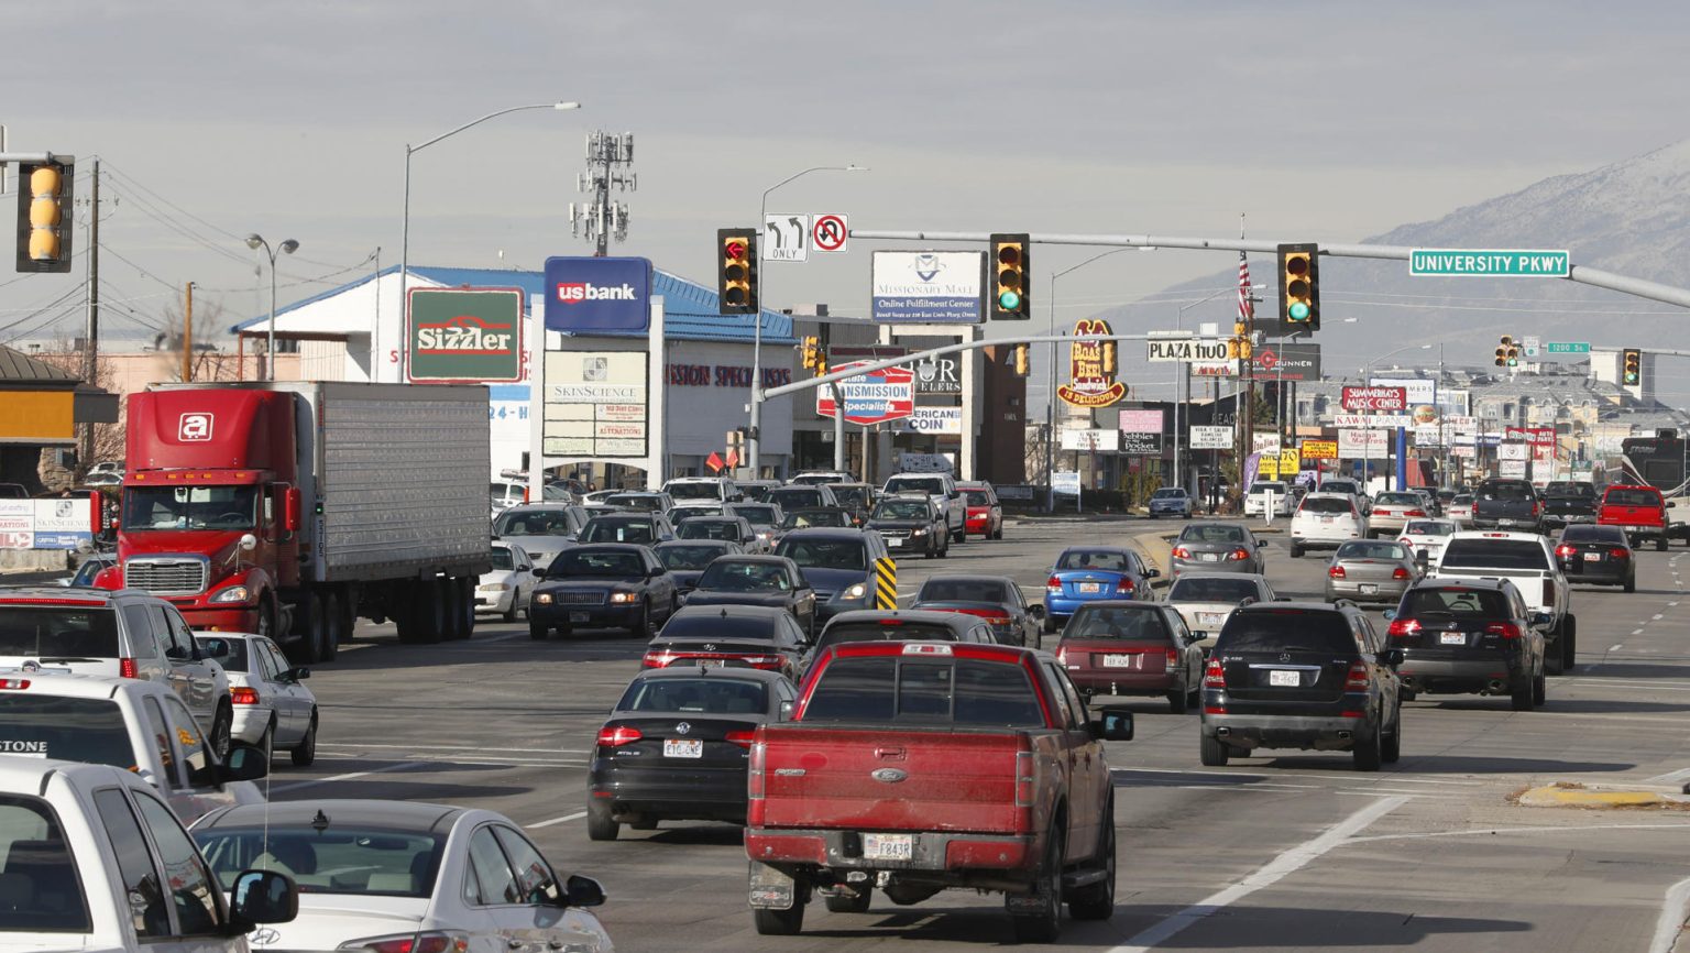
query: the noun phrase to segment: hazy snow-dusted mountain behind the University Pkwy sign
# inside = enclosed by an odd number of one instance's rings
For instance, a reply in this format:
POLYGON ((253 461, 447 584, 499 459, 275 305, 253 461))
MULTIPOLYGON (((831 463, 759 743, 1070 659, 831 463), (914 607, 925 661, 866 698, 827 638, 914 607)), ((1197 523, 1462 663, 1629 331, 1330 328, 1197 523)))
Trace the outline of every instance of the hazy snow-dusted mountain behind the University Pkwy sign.
MULTIPOLYGON (((1306 240, 1305 237, 1286 237, 1306 240)), ((1403 225, 1364 238, 1372 245, 1420 248, 1567 248, 1573 265, 1690 286, 1690 140, 1612 166, 1555 176, 1518 193, 1458 208, 1435 221, 1403 225)), ((1224 255, 1217 255, 1224 257, 1224 255)), ((1168 297, 1237 280, 1235 262, 1213 277, 1158 294, 1158 304, 1127 304, 1102 316, 1120 331, 1163 328, 1168 297)), ((1276 262, 1251 255, 1251 275, 1268 287, 1257 314, 1278 299, 1276 262)), ((1354 355, 1384 355, 1418 343, 1442 343, 1452 365, 1489 365, 1496 338, 1536 335, 1545 341, 1597 346, 1673 346, 1690 311, 1560 279, 1409 277, 1408 262, 1320 260, 1322 331, 1328 353, 1350 355, 1327 375, 1354 373, 1354 355), (1354 324, 1344 318, 1355 318, 1354 324)), ((1205 318, 1213 319, 1213 318, 1205 318)), ((1396 360, 1408 362, 1409 355, 1396 360)), ((1436 358, 1433 358, 1435 362, 1436 358)), ((1391 363, 1391 362, 1386 362, 1391 363)), ((1670 389, 1668 389, 1670 390, 1670 389)), ((1690 394, 1661 394, 1682 404, 1690 394), (1675 397, 1680 397, 1675 400, 1675 397)))

